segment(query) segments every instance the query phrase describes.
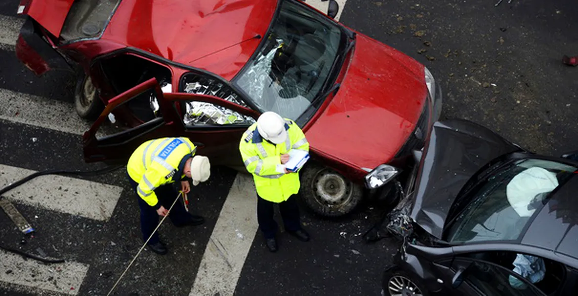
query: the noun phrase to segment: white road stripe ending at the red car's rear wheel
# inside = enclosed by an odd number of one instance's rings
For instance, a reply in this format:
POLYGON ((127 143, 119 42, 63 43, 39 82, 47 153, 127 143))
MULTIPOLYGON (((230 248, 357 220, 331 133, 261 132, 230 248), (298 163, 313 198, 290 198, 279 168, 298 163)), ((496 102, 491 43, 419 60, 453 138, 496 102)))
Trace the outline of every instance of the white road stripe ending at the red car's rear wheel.
POLYGON ((0 89, 0 119, 83 134, 90 123, 81 119, 73 103, 0 89))

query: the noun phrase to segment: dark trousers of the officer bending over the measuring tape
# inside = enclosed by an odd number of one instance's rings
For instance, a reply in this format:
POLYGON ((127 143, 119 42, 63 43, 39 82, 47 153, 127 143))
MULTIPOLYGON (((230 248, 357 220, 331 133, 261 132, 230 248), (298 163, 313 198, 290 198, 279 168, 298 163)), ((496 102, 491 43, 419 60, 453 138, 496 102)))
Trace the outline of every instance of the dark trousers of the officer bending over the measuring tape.
MULTIPOLYGON (((150 235, 153 233, 154 228, 158 225, 158 218, 160 217, 153 207, 146 203, 138 194, 136 193, 136 187, 138 183, 136 183, 131 177, 128 177, 129 182, 131 183, 132 192, 136 194, 137 200, 139 202, 140 208, 140 230, 143 233, 143 241, 146 241, 150 235)), ((172 184, 162 185, 159 186, 157 189, 154 190, 154 193, 157 194, 157 198, 159 203, 165 209, 171 208, 173 201, 177 198, 179 192, 175 189, 172 184)), ((169 213, 169 219, 175 226, 182 226, 185 223, 191 220, 191 214, 187 212, 184 208, 184 205, 181 201, 177 201, 173 209, 171 209, 171 213, 169 213)), ((154 245, 155 243, 159 242, 158 238, 158 231, 154 233, 153 237, 150 238, 149 244, 154 245)))

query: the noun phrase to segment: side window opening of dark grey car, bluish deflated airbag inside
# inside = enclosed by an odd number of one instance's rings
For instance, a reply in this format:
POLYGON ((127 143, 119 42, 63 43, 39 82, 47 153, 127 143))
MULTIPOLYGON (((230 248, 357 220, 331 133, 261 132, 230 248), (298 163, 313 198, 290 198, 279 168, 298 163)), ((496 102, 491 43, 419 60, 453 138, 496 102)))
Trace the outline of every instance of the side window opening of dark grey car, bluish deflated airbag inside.
MULTIPOLYGON (((522 276, 547 295, 557 295, 565 279, 565 265, 530 254, 510 251, 488 251, 466 254, 466 257, 499 265, 522 276)), ((526 285, 516 278, 509 278, 510 286, 523 288, 526 285)))

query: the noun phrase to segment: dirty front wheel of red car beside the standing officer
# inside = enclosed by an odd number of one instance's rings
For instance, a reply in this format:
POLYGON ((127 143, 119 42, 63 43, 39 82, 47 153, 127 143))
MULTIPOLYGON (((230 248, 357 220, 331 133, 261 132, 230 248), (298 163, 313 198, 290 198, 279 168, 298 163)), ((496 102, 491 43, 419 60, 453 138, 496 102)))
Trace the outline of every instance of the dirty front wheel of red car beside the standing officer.
POLYGON ((299 195, 314 213, 335 218, 353 212, 363 197, 363 188, 331 168, 312 162, 303 167, 299 195))

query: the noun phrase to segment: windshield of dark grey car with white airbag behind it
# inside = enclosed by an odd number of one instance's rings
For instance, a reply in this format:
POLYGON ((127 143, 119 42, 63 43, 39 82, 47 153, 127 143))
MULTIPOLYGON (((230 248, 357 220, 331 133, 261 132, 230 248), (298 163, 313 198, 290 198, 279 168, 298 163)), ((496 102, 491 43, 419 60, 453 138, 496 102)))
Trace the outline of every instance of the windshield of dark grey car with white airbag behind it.
POLYGON ((518 239, 548 194, 575 171, 576 167, 549 160, 513 160, 468 193, 469 204, 447 228, 447 241, 518 239))

